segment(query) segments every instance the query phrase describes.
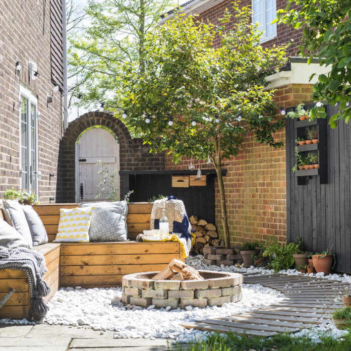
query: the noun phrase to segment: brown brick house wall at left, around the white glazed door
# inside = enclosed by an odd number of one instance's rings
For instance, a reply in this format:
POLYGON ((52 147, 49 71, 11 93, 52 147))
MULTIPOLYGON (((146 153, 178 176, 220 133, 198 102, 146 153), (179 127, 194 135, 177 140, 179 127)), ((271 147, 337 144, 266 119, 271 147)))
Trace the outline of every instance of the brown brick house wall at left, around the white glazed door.
MULTIPOLYGON (((47 1, 44 7, 41 0, 0 2, 0 198, 6 189, 20 188, 20 82, 37 96, 41 113, 38 121, 39 200, 48 202, 56 193, 56 177, 49 181, 49 172, 57 174, 63 132, 61 93, 53 92, 54 85, 43 77, 29 80, 28 68, 24 66, 33 61, 40 74, 52 77, 50 5, 61 8, 61 1, 47 1), (17 61, 24 64, 19 74, 15 69, 17 61), (52 103, 47 104, 47 95, 53 96, 52 103)), ((62 18, 60 21, 62 23, 62 18)), ((60 45, 62 41, 56 45, 56 61, 62 61, 60 45)), ((62 84, 59 78, 57 83, 62 84)))

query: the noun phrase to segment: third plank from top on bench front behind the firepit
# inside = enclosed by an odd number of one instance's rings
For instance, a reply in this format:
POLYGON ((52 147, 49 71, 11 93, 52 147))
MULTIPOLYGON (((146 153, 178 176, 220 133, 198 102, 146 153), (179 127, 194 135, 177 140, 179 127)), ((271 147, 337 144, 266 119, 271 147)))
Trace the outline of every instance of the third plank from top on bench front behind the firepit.
POLYGON ((126 264, 126 265, 96 265, 96 266, 62 266, 60 275, 115 275, 162 270, 169 262, 163 264, 126 264))

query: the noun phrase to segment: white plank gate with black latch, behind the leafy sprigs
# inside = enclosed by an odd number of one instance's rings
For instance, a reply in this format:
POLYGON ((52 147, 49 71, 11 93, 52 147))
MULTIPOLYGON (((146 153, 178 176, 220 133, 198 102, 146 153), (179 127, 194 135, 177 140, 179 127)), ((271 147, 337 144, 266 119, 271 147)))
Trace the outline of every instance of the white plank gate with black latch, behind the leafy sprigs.
MULTIPOLYGON (((116 171, 115 187, 120 188, 120 145, 106 130, 93 128, 86 131, 76 144, 76 202, 105 200, 110 194, 101 192, 98 186, 102 175, 97 172, 98 161, 108 167, 109 174, 116 171)), ((117 194, 120 196, 119 192, 117 194)))

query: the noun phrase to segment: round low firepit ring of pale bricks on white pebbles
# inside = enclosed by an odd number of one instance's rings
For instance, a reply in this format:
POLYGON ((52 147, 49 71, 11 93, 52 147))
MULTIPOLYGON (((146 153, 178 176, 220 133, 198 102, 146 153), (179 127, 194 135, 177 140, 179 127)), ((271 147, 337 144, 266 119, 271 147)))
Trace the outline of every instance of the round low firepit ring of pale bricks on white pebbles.
POLYGON ((128 274, 122 278, 122 302, 155 308, 221 306, 242 299, 243 276, 232 272, 199 270, 204 280, 152 280, 158 272, 128 274))

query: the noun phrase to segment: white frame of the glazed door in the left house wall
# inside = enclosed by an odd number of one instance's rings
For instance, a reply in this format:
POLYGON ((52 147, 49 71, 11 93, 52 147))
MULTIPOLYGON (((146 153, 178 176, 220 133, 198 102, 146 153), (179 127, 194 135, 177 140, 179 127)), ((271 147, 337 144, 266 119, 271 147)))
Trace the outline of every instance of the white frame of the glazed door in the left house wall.
POLYGON ((21 116, 21 104, 22 104, 22 96, 25 97, 28 100, 28 107, 29 112, 27 112, 27 162, 28 162, 28 172, 27 172, 27 182, 28 185, 32 186, 30 183, 30 165, 31 165, 31 124, 30 124, 30 106, 31 104, 35 105, 35 121, 34 121, 34 135, 35 135, 35 169, 32 170, 32 176, 34 177, 34 190, 35 190, 35 196, 38 198, 38 99, 36 95, 30 91, 28 88, 26 88, 23 84, 20 83, 20 94, 19 94, 19 101, 20 101, 20 108, 19 108, 19 149, 20 149, 20 159, 19 159, 19 167, 20 167, 20 173, 21 173, 21 178, 20 178, 20 187, 22 189, 22 116, 21 116), (29 118, 28 118, 29 117, 29 118))

